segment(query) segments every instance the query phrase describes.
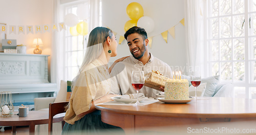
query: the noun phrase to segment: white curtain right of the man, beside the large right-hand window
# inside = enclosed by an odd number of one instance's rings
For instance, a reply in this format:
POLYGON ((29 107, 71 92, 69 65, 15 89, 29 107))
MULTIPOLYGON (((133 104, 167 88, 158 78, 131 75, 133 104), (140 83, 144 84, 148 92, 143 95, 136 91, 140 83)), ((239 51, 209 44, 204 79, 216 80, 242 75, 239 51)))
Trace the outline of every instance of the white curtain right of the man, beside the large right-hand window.
MULTIPOLYGON (((200 27, 202 27, 202 12, 200 13, 200 0, 185 0, 185 33, 187 46, 187 63, 189 69, 198 70, 201 64, 201 35, 200 27)), ((202 3, 201 3, 202 4, 202 3)), ((190 71, 188 71, 190 72, 190 71)))

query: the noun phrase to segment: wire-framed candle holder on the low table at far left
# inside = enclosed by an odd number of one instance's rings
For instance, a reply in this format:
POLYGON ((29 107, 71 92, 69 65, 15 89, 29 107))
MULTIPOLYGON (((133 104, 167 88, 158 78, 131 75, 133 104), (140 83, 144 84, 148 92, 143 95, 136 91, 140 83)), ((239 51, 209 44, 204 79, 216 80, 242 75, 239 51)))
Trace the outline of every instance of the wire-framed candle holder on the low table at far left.
POLYGON ((0 116, 11 117, 13 114, 12 93, 0 92, 0 116))

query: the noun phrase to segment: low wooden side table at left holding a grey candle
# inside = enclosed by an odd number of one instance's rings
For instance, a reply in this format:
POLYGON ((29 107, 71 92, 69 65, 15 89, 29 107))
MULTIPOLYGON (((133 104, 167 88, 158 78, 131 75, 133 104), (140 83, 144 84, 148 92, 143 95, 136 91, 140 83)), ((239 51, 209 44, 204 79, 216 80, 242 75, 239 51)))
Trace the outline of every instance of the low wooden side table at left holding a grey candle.
MULTIPOLYGON (((29 111, 27 117, 18 117, 14 112, 12 117, 0 117, 0 126, 12 126, 12 134, 16 134, 16 126, 29 126, 29 134, 35 133, 35 125, 48 124, 49 111, 29 111)), ((53 122, 60 122, 65 113, 54 117, 53 122)))

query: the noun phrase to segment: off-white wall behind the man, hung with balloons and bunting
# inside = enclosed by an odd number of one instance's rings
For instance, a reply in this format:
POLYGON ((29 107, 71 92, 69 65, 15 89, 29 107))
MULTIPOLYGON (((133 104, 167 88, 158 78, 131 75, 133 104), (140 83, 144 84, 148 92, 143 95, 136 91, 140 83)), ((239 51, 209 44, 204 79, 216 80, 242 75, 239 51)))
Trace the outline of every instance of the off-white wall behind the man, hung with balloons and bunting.
MULTIPOLYGON (((179 21, 184 18, 184 1, 180 0, 140 0, 140 1, 102 1, 102 24, 117 32, 117 39, 125 33, 124 24, 130 18, 126 14, 126 7, 132 2, 138 2, 144 11, 144 16, 151 17, 155 22, 154 31, 148 33, 153 36, 152 54, 169 64, 173 69, 186 66, 185 53, 185 29, 179 21), (176 25, 176 26, 175 26, 176 25), (175 26, 176 38, 168 34, 168 43, 162 38, 161 33, 175 26)), ((117 49, 118 55, 111 58, 111 61, 131 55, 127 42, 124 40, 117 49)), ((180 69, 179 69, 180 70, 180 69)))

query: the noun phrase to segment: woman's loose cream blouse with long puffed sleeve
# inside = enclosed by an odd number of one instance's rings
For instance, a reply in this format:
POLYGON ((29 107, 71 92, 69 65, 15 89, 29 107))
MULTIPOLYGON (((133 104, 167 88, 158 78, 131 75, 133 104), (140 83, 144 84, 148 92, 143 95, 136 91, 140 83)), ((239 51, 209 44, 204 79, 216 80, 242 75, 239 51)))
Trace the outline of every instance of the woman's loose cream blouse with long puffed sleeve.
POLYGON ((69 124, 80 120, 82 117, 78 115, 88 111, 93 100, 109 94, 111 88, 108 69, 98 60, 88 64, 76 79, 70 105, 64 117, 69 124))

